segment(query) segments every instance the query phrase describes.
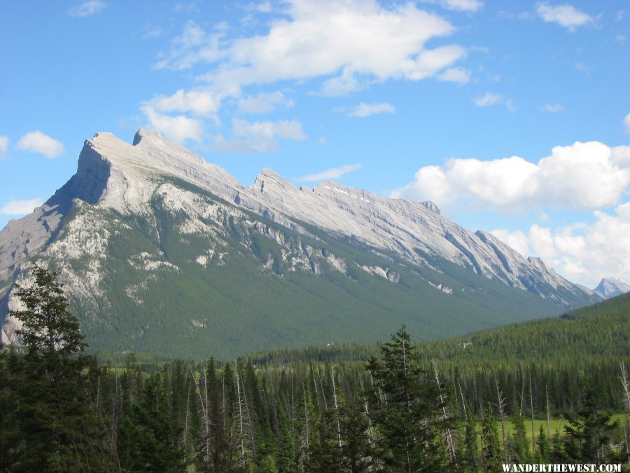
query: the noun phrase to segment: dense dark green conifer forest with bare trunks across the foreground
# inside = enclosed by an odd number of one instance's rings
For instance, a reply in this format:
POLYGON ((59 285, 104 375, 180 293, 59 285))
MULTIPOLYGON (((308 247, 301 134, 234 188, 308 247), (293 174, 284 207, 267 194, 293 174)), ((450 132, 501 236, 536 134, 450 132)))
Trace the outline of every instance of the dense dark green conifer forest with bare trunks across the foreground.
POLYGON ((611 409, 630 409, 619 360, 610 379, 580 373, 566 409, 549 395, 551 381, 562 390, 573 379, 552 367, 460 371, 423 357, 405 327, 367 362, 148 367, 130 354, 121 366, 99 365, 84 353, 55 274, 34 276, 34 287, 18 288, 25 309, 14 313, 25 350, 0 350, 2 471, 495 472, 502 462, 629 462, 627 425, 610 420, 611 409), (528 436, 533 417, 552 409, 566 427, 528 436))

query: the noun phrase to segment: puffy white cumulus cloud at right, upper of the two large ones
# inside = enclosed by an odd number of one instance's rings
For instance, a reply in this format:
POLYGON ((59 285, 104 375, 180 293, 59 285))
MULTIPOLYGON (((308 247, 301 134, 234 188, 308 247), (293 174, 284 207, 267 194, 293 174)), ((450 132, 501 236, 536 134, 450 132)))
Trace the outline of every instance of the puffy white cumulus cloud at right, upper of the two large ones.
POLYGON ((600 142, 556 146, 538 163, 519 156, 496 160, 451 159, 421 167, 396 198, 433 200, 440 207, 519 210, 543 206, 594 210, 617 205, 630 186, 630 146, 600 142))

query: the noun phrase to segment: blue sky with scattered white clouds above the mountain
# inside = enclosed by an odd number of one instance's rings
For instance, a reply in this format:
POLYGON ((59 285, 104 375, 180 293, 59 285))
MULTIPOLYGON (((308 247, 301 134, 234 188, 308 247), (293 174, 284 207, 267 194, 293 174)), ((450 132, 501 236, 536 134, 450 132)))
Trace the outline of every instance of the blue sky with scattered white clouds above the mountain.
POLYGON ((251 184, 433 200, 630 282, 627 1, 20 1, 0 15, 0 227, 83 140, 158 130, 251 184))

